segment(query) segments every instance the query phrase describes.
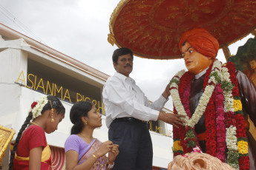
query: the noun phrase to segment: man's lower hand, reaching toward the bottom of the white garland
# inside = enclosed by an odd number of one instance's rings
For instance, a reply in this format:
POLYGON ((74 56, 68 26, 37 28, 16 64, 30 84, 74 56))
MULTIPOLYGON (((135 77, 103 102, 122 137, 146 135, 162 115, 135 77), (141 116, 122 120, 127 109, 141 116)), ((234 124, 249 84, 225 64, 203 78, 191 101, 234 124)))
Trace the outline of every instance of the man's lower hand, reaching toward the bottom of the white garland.
POLYGON ((178 128, 178 125, 183 125, 185 123, 184 120, 181 120, 180 118, 185 118, 184 115, 174 115, 172 113, 164 113, 160 111, 158 120, 163 120, 165 123, 172 124, 173 126, 178 128))

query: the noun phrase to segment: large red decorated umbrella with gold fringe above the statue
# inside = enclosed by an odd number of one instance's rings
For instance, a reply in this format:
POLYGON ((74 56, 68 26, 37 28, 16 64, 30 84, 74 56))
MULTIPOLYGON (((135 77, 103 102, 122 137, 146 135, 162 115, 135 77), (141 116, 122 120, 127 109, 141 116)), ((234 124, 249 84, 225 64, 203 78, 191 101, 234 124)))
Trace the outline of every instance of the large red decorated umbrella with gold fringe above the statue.
POLYGON ((256 28, 255 0, 121 0, 108 41, 142 58, 180 58, 178 41, 194 27, 209 31, 226 50, 256 28))

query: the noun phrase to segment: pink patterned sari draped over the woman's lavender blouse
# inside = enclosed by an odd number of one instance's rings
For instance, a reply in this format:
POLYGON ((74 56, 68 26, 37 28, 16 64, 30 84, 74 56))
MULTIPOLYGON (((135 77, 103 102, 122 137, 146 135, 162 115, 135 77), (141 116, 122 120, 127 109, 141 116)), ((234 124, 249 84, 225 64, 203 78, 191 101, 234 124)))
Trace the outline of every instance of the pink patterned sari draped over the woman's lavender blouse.
MULTIPOLYGON (((96 152, 100 146, 102 146, 102 143, 97 139, 93 139, 90 145, 91 146, 84 151, 85 153, 82 155, 80 160, 78 160, 78 164, 83 163, 85 160, 91 157, 91 155, 94 152, 96 152)), ((105 170, 107 163, 108 163, 108 159, 105 155, 102 157, 99 157, 96 163, 94 163, 93 167, 91 167, 91 170, 96 170, 96 169, 105 170)))

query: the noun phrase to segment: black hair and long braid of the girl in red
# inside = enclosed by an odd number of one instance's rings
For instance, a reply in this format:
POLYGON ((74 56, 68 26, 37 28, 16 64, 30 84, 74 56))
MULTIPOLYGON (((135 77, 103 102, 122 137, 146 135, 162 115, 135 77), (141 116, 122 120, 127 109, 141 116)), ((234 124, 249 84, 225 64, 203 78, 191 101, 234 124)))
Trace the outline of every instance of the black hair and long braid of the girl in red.
MULTIPOLYGON (((59 98, 56 98, 53 95, 49 95, 49 96, 47 96, 47 100, 48 100, 48 103, 46 103, 44 108, 42 109, 42 112, 41 112, 42 114, 49 109, 56 109, 57 114, 65 115, 65 107, 62 105, 62 102, 59 101, 59 98), (53 108, 50 105, 50 102, 51 102, 53 108)), ((22 128, 19 130, 19 133, 16 137, 16 140, 15 140, 15 143, 13 146, 13 151, 10 154, 9 170, 13 169, 13 158, 14 158, 15 152, 17 150, 19 140, 22 137, 22 132, 24 131, 24 129, 27 128, 27 125, 30 123, 30 120, 32 120, 32 117, 33 117, 32 112, 29 112, 26 120, 24 121, 24 123, 22 125, 22 128)))

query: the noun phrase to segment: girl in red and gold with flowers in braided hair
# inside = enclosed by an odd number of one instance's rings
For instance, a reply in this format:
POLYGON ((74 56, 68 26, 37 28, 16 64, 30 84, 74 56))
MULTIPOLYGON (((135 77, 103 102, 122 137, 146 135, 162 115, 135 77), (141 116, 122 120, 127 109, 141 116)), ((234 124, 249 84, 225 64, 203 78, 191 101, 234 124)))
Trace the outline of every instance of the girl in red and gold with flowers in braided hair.
POLYGON ((65 108, 58 98, 49 95, 34 101, 16 137, 9 170, 53 169, 45 132, 54 132, 64 117, 65 108))

